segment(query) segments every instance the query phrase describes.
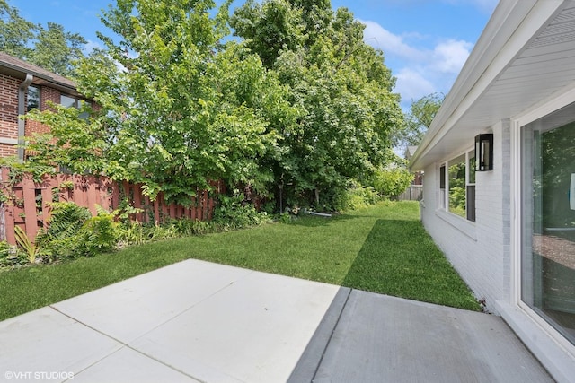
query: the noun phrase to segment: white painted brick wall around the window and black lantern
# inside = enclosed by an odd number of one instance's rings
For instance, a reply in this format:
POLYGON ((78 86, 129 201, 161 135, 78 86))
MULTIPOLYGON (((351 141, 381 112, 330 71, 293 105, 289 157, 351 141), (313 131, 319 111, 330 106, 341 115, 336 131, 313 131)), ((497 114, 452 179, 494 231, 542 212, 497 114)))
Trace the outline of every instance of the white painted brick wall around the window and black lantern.
POLYGON ((491 128, 495 166, 476 173, 476 222, 438 209, 439 163, 425 169, 421 220, 477 299, 498 313, 495 302, 509 300, 510 293, 510 122, 491 128))

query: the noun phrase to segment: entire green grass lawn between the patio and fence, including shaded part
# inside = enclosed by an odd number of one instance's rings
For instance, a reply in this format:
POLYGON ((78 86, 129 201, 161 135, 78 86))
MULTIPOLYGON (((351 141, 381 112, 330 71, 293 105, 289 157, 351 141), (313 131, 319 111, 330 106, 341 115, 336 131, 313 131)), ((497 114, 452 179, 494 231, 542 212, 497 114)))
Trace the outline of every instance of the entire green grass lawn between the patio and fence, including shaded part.
POLYGON ((188 258, 480 309, 423 229, 418 204, 398 202, 3 272, 0 320, 188 258))

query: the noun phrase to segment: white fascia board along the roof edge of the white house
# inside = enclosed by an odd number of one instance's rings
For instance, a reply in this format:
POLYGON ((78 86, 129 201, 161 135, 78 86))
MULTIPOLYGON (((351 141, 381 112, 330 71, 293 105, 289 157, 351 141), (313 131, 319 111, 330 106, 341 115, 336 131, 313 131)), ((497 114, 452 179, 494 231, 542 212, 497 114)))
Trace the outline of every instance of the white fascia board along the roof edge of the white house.
POLYGON ((456 126, 564 3, 564 0, 500 1, 413 155, 411 170, 421 170, 427 165, 426 153, 456 126))

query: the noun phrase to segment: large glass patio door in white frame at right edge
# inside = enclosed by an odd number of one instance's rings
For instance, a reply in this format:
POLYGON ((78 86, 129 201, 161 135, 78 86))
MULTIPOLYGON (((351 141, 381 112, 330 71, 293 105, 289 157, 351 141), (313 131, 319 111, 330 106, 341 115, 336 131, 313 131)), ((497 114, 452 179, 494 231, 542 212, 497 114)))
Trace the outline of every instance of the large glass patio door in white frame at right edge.
POLYGON ((575 104, 521 127, 521 300, 575 344, 575 104))

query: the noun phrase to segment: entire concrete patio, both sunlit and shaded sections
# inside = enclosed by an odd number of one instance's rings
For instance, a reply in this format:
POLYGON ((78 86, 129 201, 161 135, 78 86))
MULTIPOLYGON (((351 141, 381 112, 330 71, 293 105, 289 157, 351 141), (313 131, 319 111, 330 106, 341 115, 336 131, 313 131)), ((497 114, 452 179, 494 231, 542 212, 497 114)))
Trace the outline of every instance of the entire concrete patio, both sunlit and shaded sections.
POLYGON ((500 318, 197 260, 0 322, 0 374, 7 382, 553 381, 500 318))

